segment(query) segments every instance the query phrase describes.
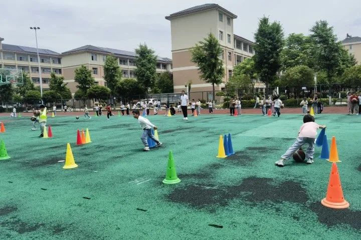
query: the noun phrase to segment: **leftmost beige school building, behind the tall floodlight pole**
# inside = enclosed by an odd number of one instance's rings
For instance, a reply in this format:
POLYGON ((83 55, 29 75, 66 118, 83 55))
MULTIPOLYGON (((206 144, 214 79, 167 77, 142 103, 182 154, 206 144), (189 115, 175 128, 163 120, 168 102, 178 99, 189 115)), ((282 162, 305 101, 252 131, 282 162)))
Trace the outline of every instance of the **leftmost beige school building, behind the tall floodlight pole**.
MULTIPOLYGON (((40 71, 43 89, 49 89, 50 73, 62 75, 60 53, 49 49, 39 49, 40 71)), ((37 49, 18 45, 2 44, 0 51, 0 68, 18 69, 28 73, 35 85, 40 85, 37 49)))

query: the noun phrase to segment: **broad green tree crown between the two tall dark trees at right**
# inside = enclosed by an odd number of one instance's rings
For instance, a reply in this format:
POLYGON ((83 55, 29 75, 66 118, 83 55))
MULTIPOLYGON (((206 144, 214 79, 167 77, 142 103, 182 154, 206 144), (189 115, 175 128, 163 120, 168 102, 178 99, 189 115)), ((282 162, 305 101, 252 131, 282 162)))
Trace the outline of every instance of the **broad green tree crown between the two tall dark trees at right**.
POLYGON ((290 34, 285 40, 285 47, 281 51, 281 69, 286 70, 298 65, 314 67, 314 46, 311 38, 303 34, 290 34))

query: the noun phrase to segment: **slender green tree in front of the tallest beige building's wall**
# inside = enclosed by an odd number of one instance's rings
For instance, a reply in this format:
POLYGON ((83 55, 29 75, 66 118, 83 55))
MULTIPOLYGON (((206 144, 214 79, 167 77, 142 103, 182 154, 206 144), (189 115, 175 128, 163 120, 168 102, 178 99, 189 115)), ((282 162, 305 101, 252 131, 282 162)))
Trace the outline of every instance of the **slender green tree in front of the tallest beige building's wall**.
POLYGON ((204 41, 196 44, 191 50, 191 61, 197 64, 200 79, 212 84, 213 102, 215 101, 216 95, 215 85, 218 86, 222 83, 225 74, 223 60, 220 58, 222 51, 218 39, 212 33, 210 33, 204 41))

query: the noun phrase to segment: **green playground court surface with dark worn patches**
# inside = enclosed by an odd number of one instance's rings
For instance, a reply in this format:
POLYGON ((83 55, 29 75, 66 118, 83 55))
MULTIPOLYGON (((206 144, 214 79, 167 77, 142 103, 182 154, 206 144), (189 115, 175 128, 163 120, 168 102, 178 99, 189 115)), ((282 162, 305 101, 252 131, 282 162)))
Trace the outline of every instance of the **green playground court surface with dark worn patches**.
MULTIPOLYGON (((50 116, 51 114, 49 114, 50 116)), ((274 162, 294 142, 300 114, 149 116, 159 148, 143 152, 132 116, 48 117, 39 138, 29 117, 1 117, 8 160, 0 161, 0 239, 360 239, 361 116, 317 114, 336 137, 347 209, 320 204, 331 163, 274 162), (77 129, 92 143, 77 146, 77 129), (220 135, 234 155, 217 158, 220 135), (74 169, 63 169, 66 144, 74 169), (180 183, 166 185, 172 150, 180 183)))

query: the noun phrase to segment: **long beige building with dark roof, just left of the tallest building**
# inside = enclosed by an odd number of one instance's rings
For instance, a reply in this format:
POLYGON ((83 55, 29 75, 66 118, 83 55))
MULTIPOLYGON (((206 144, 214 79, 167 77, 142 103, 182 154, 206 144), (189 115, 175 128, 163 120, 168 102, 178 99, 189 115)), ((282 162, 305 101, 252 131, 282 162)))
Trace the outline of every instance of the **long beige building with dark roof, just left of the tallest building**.
MULTIPOLYGON (((118 61, 119 67, 123 73, 123 78, 135 77, 135 53, 117 49, 95 47, 86 45, 61 54, 63 65, 63 76, 68 87, 74 94, 77 90, 74 80, 75 69, 85 65, 92 70, 95 83, 105 86, 104 81, 104 63, 106 57, 113 54, 118 61)), ((172 72, 172 60, 168 58, 157 57, 156 72, 172 72)))

